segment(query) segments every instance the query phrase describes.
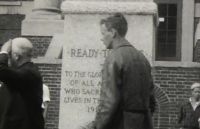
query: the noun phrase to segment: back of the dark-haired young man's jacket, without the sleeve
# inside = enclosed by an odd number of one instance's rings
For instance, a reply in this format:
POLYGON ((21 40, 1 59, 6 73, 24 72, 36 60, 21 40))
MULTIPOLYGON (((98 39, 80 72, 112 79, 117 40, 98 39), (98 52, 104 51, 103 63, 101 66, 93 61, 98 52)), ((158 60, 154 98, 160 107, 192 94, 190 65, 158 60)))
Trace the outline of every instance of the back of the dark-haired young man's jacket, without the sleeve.
POLYGON ((107 64, 115 64, 118 70, 118 88, 123 93, 124 109, 146 110, 149 108, 149 93, 153 88, 151 67, 144 55, 127 41, 113 50, 107 64), (131 97, 132 96, 132 97, 131 97))

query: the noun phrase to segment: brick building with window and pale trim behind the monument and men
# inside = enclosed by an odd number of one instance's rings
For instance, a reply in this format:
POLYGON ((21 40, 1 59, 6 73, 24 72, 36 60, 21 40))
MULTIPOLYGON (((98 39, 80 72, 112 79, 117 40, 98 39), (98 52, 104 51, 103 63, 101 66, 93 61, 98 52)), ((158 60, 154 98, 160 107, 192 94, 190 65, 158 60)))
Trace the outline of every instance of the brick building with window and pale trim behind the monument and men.
MULTIPOLYGON (((152 61, 158 102, 154 125, 155 129, 177 129, 179 106, 188 99, 190 85, 200 81, 200 0, 154 1, 158 4, 160 21, 152 61)), ((50 87, 51 103, 46 128, 58 129, 61 56, 43 58, 53 34, 39 31, 34 35, 22 33, 22 21, 34 8, 33 0, 0 0, 0 45, 21 35, 33 42, 34 62, 40 68, 44 83, 50 87)), ((57 13, 60 13, 59 9, 57 13)), ((62 20, 62 15, 58 18, 62 20)))

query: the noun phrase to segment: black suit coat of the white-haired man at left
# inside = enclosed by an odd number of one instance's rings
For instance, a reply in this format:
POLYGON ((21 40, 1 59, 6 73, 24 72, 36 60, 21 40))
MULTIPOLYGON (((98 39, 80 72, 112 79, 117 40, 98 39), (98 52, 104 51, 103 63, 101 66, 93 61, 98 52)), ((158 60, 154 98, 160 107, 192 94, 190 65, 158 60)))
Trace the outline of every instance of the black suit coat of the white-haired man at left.
POLYGON ((8 55, 0 54, 0 129, 44 129, 42 77, 32 62, 8 67, 8 55))

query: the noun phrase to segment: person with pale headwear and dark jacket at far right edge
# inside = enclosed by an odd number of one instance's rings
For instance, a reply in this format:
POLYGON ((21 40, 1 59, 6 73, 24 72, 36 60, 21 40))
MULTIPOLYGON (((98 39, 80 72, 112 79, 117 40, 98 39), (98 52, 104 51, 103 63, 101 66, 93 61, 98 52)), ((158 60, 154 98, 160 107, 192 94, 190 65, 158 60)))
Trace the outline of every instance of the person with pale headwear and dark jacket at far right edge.
POLYGON ((180 108, 178 123, 181 129, 199 129, 200 83, 191 85, 191 97, 180 108))

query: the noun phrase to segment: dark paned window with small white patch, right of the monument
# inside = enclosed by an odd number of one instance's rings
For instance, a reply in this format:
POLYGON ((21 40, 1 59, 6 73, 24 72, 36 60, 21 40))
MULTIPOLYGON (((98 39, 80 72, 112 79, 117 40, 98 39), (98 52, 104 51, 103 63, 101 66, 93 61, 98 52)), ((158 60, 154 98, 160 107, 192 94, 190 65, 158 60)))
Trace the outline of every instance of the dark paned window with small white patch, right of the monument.
POLYGON ((155 0, 159 26, 156 34, 156 60, 181 59, 181 0, 155 0))

